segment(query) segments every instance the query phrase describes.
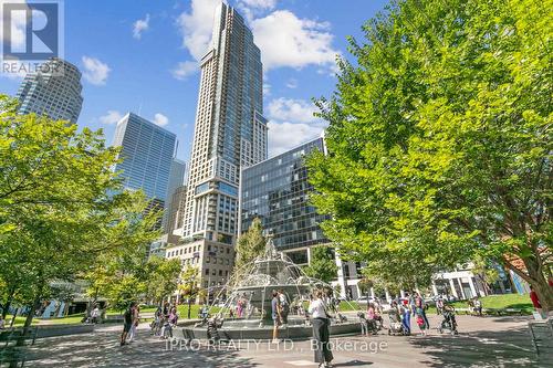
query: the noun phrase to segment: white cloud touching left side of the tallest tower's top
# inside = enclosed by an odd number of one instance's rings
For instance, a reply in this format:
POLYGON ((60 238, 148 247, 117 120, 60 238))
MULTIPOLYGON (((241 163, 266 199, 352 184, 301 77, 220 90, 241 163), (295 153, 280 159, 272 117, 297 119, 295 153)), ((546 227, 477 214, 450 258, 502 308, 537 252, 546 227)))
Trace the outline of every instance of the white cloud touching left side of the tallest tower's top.
POLYGON ((190 12, 181 13, 177 27, 185 46, 199 61, 211 41, 215 9, 221 0, 192 0, 190 12))

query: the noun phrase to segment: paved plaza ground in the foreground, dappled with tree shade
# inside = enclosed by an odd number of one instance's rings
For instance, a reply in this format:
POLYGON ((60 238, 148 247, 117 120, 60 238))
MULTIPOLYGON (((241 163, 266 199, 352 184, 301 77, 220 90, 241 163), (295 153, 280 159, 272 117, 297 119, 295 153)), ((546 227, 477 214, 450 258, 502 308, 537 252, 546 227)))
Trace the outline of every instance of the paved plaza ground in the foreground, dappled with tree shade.
MULTIPOLYGON (((335 367, 547 367, 535 361, 526 317, 457 316, 459 336, 340 337, 334 339, 335 367)), ((430 316, 436 326, 439 317, 430 316)), ((25 367, 316 367, 310 341, 234 343, 219 349, 186 348, 160 340, 139 327, 138 339, 118 345, 121 326, 98 328, 90 335, 39 339, 27 347, 25 367)), ((552 367, 550 364, 549 367, 552 367)))

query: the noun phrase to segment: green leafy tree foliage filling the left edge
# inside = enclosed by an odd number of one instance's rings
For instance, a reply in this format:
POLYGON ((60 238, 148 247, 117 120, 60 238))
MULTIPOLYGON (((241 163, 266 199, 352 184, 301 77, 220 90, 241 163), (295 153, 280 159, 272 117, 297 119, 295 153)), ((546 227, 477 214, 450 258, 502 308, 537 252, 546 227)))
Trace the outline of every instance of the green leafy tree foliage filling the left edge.
POLYGON ((0 294, 2 304, 31 307, 25 327, 53 281, 71 282, 101 254, 156 235, 146 202, 134 202, 140 193, 121 192, 116 162, 101 132, 18 115, 17 101, 0 95, 0 294))

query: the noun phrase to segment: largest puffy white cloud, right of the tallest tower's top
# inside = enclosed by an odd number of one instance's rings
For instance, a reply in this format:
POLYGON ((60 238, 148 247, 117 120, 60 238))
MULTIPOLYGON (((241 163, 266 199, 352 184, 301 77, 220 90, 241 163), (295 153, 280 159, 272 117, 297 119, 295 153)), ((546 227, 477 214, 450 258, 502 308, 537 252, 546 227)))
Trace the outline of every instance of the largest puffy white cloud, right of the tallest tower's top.
POLYGON ((306 65, 333 66, 338 51, 328 22, 300 19, 289 10, 276 10, 251 22, 255 44, 265 70, 306 65))

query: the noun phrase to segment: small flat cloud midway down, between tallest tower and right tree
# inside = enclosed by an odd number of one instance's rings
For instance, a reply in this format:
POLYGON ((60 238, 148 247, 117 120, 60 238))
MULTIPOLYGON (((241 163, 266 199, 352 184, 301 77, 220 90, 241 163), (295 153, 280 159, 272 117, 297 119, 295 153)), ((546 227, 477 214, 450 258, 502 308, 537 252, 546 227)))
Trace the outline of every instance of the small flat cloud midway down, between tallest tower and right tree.
POLYGON ((268 106, 269 118, 274 120, 288 120, 294 123, 313 123, 320 120, 313 116, 317 112, 313 103, 304 99, 275 98, 268 106))

